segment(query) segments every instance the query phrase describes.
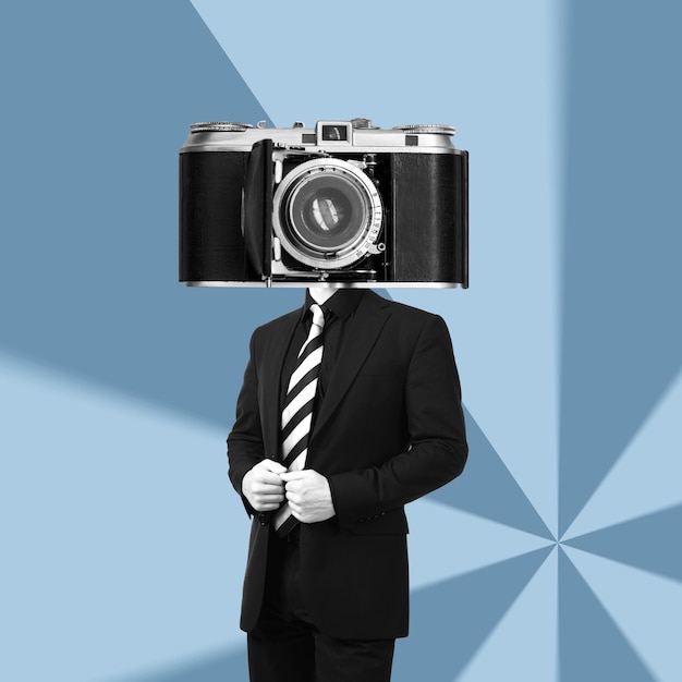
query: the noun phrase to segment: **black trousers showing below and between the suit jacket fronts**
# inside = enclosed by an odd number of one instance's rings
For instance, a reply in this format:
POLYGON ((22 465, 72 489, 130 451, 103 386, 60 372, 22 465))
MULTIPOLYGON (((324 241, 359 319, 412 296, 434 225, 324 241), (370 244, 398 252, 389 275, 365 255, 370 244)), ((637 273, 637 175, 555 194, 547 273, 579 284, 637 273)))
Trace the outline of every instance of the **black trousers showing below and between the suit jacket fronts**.
POLYGON ((394 640, 338 640, 321 633, 301 597, 299 533, 270 528, 263 610, 247 635, 251 682, 390 682, 394 640))

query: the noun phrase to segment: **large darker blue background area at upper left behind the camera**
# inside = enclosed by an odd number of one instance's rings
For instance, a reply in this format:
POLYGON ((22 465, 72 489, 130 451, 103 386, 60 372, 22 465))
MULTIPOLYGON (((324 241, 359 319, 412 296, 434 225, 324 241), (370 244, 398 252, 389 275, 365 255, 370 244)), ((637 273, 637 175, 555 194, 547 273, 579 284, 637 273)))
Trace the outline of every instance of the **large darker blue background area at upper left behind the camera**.
POLYGON ((22 65, 3 70, 0 345, 224 425, 251 331, 301 293, 178 283, 178 150, 197 120, 267 114, 188 0, 0 12, 22 65))

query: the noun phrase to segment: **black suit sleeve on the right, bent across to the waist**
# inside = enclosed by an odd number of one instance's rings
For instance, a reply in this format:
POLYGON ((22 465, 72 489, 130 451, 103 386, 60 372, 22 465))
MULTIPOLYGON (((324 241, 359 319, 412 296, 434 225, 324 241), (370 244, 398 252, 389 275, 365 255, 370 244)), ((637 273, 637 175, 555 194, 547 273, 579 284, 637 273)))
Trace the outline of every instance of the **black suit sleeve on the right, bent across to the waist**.
POLYGON ((459 476, 467 456, 461 389, 448 328, 429 316, 407 368, 409 448, 379 466, 329 477, 339 524, 349 528, 459 476))

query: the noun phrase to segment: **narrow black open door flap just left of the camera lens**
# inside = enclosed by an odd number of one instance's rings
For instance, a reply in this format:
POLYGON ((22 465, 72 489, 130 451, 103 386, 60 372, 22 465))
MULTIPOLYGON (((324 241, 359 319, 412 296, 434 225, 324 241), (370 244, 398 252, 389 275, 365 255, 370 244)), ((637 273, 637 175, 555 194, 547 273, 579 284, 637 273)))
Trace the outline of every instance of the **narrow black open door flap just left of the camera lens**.
POLYGON ((270 277, 272 252, 272 141, 257 142, 248 155, 242 220, 251 266, 260 279, 270 277))

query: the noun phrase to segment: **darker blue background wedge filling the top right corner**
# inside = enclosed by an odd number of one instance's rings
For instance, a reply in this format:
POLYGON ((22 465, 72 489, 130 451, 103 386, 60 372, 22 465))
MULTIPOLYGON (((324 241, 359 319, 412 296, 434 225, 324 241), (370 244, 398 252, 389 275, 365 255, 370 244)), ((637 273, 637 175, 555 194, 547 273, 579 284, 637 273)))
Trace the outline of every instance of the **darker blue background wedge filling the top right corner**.
POLYGON ((568 13, 560 535, 682 365, 682 5, 568 13))

